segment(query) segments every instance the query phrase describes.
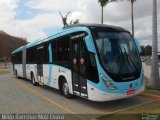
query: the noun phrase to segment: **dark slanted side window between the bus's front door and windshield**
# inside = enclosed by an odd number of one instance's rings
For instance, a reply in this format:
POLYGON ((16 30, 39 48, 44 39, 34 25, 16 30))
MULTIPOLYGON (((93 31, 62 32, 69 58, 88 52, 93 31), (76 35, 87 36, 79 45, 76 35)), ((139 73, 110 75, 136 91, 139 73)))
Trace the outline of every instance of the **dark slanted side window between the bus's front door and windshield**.
POLYGON ((98 83, 98 70, 95 60, 95 54, 92 52, 88 52, 88 60, 87 60, 87 78, 92 82, 98 83))

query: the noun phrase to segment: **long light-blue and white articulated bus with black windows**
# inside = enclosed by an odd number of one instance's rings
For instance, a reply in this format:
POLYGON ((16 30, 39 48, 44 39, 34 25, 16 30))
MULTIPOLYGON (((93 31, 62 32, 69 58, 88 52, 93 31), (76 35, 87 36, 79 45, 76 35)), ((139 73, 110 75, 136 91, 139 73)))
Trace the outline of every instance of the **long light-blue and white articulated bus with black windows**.
POLYGON ((13 73, 66 98, 111 101, 144 91, 140 46, 129 31, 79 24, 12 52, 13 73))

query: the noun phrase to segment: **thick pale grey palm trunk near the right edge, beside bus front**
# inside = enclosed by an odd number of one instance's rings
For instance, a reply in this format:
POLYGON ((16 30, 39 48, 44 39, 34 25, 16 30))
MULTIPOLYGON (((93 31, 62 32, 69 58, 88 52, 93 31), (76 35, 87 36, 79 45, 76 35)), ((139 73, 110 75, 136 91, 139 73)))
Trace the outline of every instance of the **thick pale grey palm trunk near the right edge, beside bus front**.
POLYGON ((150 85, 160 88, 159 65, 158 65, 158 36, 157 36, 157 0, 153 0, 152 13, 152 67, 150 85))

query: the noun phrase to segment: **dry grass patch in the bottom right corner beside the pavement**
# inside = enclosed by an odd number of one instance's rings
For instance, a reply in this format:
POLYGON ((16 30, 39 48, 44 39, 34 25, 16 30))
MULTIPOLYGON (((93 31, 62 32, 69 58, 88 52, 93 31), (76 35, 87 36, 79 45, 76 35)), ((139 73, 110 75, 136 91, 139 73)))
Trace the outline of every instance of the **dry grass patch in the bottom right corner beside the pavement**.
MULTIPOLYGON (((98 120, 142 120, 146 115, 160 118, 160 100, 126 109, 110 115, 98 117, 98 120)), ((159 119, 158 118, 158 119, 159 119)), ((154 120, 158 120, 154 119, 154 120)))

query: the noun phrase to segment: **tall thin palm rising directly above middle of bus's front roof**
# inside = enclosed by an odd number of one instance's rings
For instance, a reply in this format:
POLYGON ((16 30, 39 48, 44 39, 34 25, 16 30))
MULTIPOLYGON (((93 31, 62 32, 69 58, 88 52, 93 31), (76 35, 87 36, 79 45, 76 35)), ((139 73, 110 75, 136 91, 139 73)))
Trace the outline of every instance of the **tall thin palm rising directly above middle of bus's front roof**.
POLYGON ((100 6, 101 6, 101 13, 102 13, 102 16, 101 16, 101 23, 103 24, 103 8, 110 2, 115 2, 117 0, 98 0, 100 6))

